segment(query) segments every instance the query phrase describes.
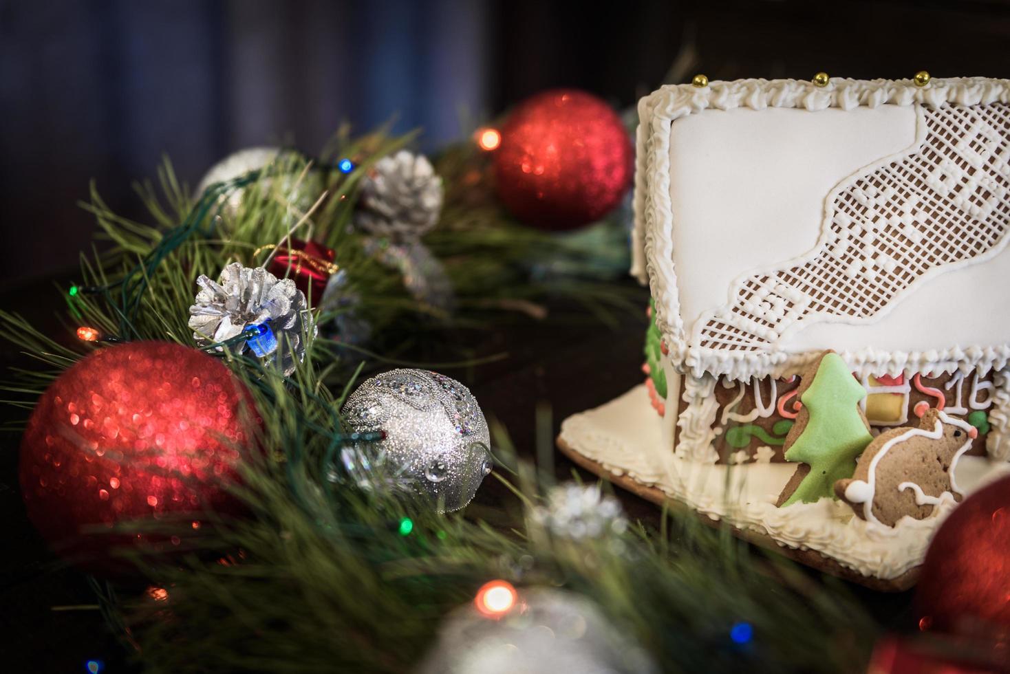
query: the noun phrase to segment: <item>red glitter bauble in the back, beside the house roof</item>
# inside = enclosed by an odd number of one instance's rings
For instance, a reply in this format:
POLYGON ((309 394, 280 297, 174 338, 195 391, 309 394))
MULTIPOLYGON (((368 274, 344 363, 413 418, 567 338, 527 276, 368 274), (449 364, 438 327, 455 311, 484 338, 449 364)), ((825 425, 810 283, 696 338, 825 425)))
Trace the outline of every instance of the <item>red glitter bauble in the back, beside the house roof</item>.
POLYGON ((498 196, 523 222, 575 229, 617 206, 631 182, 631 139, 606 103, 577 90, 537 94, 501 129, 498 196))

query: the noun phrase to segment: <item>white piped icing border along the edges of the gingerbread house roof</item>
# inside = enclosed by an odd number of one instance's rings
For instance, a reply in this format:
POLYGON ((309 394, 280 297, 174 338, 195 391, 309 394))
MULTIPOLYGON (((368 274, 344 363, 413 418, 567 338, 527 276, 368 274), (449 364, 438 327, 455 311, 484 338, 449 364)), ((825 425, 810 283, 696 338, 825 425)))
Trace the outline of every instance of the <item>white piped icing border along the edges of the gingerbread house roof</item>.
MULTIPOLYGON (((934 108, 1010 102, 1010 82, 985 78, 933 80, 925 87, 905 81, 832 79, 827 87, 795 80, 738 80, 714 82, 708 87, 664 87, 638 104, 639 128, 635 167, 635 232, 632 273, 649 284, 656 301, 656 325, 676 362, 696 374, 721 373, 733 379, 782 376, 802 368, 810 354, 786 351, 723 351, 689 349, 680 315, 677 275, 673 262, 673 212, 670 195, 671 123, 707 108, 729 110, 746 107, 829 107, 850 110, 856 106, 922 104, 934 108), (647 271, 647 275, 646 275, 647 271)), ((857 351, 843 356, 860 375, 909 369, 926 373, 950 372, 964 367, 980 372, 1003 368, 1010 345, 951 347, 942 352, 857 351)))

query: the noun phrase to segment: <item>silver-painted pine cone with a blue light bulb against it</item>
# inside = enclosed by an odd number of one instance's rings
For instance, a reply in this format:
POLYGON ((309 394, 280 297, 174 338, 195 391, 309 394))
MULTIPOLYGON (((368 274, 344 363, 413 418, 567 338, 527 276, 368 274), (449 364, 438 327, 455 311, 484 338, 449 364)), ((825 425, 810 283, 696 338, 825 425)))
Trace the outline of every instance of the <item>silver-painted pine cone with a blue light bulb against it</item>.
MULTIPOLYGON (((295 370, 305 357, 303 334, 315 336, 318 328, 305 295, 294 280, 279 280, 262 266, 252 268, 232 262, 221 270, 216 284, 203 274, 196 283, 200 292, 196 304, 190 307, 189 327, 199 344, 223 342, 248 326, 269 321, 277 343, 266 355, 271 362, 279 363, 285 374, 295 370)), ((231 348, 240 353, 250 347, 243 341, 231 348)))

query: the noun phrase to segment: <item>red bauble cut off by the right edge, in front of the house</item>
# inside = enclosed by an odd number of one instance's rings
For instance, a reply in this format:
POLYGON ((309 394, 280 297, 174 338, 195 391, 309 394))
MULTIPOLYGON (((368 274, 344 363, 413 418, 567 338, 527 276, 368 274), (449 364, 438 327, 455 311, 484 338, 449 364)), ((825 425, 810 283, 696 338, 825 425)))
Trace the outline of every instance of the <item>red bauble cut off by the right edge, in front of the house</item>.
POLYGON ((1010 639, 1010 477, 972 494, 940 526, 916 606, 923 629, 1010 639))

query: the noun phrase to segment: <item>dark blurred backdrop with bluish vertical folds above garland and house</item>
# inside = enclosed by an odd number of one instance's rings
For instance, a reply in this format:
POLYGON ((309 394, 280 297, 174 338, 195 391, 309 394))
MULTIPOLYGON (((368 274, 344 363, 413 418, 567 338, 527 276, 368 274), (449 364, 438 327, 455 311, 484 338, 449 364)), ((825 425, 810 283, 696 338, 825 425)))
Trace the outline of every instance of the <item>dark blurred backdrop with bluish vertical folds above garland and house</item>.
POLYGON ((341 121, 430 150, 553 86, 628 106, 665 80, 1010 75, 1006 2, 0 0, 0 282, 76 263, 94 180, 163 154, 191 186, 256 144, 321 148, 341 121), (598 6, 597 6, 598 5, 598 6))

